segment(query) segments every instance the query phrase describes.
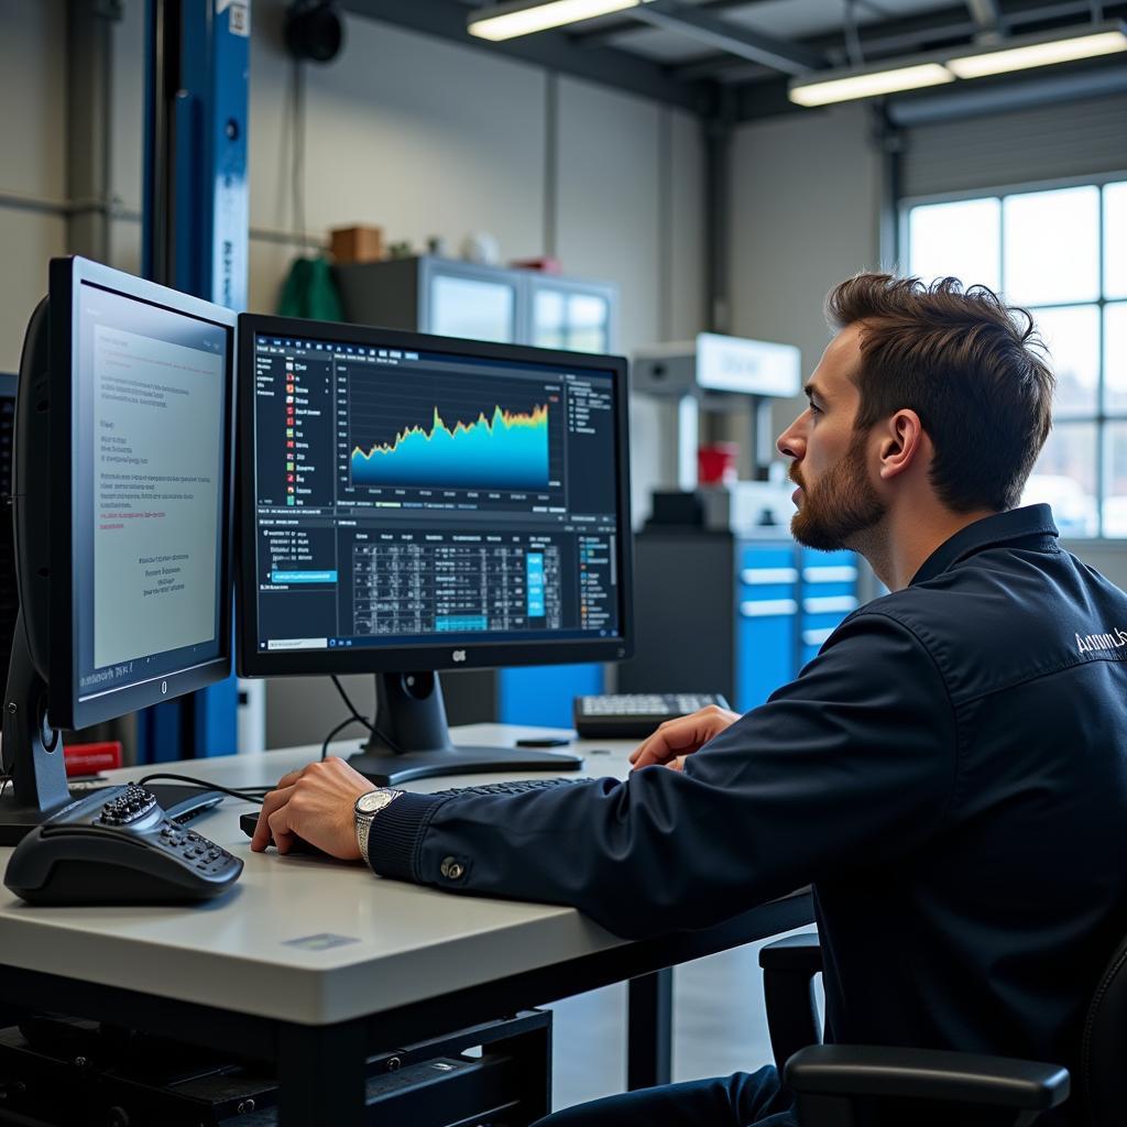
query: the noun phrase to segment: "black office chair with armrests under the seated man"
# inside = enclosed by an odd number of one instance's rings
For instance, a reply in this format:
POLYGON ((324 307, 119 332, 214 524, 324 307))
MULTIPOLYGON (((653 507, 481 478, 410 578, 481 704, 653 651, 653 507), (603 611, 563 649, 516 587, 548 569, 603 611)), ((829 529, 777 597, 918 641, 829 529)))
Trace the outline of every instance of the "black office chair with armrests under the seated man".
MULTIPOLYGON (((1030 1127, 1068 1098, 1059 1065, 939 1049, 820 1045, 814 977, 822 970, 817 935, 792 935, 760 952, 771 1048, 779 1074, 795 1092, 802 1127, 860 1127, 881 1100, 923 1100, 980 1112, 996 1109, 1002 1127, 1030 1127)), ((1127 940, 1092 995, 1075 1077, 1084 1127, 1127 1121, 1127 940)), ((978 1112, 976 1112, 978 1113, 978 1112)), ((977 1121, 977 1120, 976 1120, 977 1121)))

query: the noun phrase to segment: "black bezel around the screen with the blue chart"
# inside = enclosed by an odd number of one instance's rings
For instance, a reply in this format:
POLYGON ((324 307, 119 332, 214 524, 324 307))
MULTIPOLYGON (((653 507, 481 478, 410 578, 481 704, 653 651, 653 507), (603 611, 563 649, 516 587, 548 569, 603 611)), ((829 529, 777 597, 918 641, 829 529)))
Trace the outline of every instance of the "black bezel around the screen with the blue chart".
POLYGON ((236 656, 240 676, 302 676, 398 671, 481 669, 506 665, 561 665, 573 662, 622 662, 633 655, 633 530, 630 518, 629 364, 624 356, 564 352, 531 345, 463 340, 402 329, 312 321, 243 313, 239 318, 239 543, 236 578, 238 636, 236 656), (535 641, 470 641, 456 646, 421 644, 364 649, 314 649, 270 653, 258 649, 257 522, 255 504, 255 337, 302 337, 390 347, 412 352, 447 352, 482 360, 562 365, 571 370, 612 372, 618 426, 614 464, 618 511, 622 514, 619 543, 620 633, 614 638, 536 639, 535 641))

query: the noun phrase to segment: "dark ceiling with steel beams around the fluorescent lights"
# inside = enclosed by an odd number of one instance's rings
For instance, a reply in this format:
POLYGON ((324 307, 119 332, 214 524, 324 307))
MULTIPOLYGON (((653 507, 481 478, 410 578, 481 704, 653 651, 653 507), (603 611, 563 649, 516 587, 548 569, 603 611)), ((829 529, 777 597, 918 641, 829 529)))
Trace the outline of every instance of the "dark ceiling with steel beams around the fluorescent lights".
MULTIPOLYGON (((1098 0, 651 0, 614 16, 487 44, 465 30, 481 0, 343 0, 356 12, 525 59, 703 116, 791 112, 795 74, 853 66, 1093 19, 1127 19, 1098 0), (734 108, 735 107, 735 108, 734 108)), ((1127 55, 1053 68, 1127 76, 1127 55)), ((1014 81, 1036 81, 1045 72, 1014 81)), ((990 82, 991 80, 983 80, 990 82)))

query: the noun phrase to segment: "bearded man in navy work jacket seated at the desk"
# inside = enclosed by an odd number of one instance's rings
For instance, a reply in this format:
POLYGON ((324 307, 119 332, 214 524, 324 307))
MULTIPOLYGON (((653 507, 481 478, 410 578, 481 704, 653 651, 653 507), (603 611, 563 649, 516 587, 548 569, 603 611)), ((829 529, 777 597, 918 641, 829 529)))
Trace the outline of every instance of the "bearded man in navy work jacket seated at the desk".
MULTIPOLYGON (((1046 506, 1014 507, 1054 389, 1028 314, 879 274, 827 308, 837 335, 778 444, 792 530, 859 551, 891 594, 763 707, 664 725, 625 782, 381 795, 367 858, 629 937, 813 884, 827 1040, 1074 1064, 1127 926, 1127 596, 1059 549, 1046 506)), ((356 858, 370 790, 339 761, 294 772, 252 848, 272 831, 283 851, 298 834, 356 858)), ((789 1108, 763 1070, 551 1121, 775 1125, 789 1108)), ((951 1121, 900 1122, 932 1116, 951 1121)))

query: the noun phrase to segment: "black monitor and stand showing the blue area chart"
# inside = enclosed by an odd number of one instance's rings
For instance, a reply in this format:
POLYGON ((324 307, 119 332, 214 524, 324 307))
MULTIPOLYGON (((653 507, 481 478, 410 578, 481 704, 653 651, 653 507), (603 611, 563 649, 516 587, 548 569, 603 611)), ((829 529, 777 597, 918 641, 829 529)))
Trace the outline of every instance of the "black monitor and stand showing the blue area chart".
POLYGON ((450 740, 440 669, 631 653, 627 363, 239 319, 238 659, 376 674, 381 783, 577 769, 450 740))

